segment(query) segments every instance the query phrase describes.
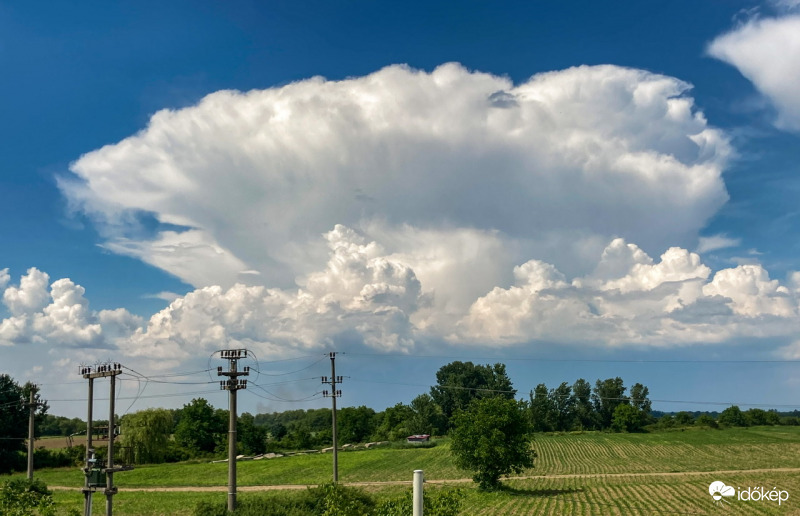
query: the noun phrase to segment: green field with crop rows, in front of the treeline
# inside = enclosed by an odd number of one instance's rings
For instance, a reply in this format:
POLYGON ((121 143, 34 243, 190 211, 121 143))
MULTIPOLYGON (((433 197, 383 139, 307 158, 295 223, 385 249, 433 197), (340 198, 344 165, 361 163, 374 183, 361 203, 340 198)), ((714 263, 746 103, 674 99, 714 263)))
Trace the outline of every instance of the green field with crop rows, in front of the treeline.
MULTIPOLYGON (((482 493, 469 475, 452 465, 447 441, 426 449, 373 449, 339 454, 339 478, 347 482, 410 481, 414 469, 432 481, 465 488, 463 514, 800 514, 800 428, 755 427, 686 430, 651 434, 540 435, 536 468, 509 479, 508 489, 482 493), (759 470, 759 471, 755 471, 759 470), (713 473, 718 472, 718 473, 713 473), (723 473, 724 472, 724 473, 723 473), (734 487, 779 488, 789 500, 734 500, 715 506, 708 485, 721 480, 734 487), (724 511, 724 512, 723 512, 724 511)), ((238 464, 240 486, 315 485, 330 481, 331 456, 303 455, 238 464)), ((50 486, 82 485, 77 469, 46 470, 37 476, 50 486)), ((116 476, 120 494, 115 514, 190 514, 200 500, 223 500, 218 492, 127 491, 156 487, 222 487, 226 464, 169 464, 137 467, 116 476)), ((367 487, 377 496, 406 487, 367 487)), ((291 496, 291 492, 243 491, 241 497, 291 496)), ((58 491, 62 507, 79 507, 82 495, 58 491)), ((102 513, 103 502, 95 500, 102 513)))

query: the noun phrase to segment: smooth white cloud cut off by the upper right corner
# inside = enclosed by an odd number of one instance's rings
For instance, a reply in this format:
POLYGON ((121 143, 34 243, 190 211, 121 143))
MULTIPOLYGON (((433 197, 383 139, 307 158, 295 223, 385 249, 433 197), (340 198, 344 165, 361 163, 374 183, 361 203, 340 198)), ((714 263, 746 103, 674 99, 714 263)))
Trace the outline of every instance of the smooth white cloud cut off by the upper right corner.
POLYGON ((800 15, 751 20, 716 38, 708 52, 735 66, 769 98, 779 127, 800 131, 800 15))

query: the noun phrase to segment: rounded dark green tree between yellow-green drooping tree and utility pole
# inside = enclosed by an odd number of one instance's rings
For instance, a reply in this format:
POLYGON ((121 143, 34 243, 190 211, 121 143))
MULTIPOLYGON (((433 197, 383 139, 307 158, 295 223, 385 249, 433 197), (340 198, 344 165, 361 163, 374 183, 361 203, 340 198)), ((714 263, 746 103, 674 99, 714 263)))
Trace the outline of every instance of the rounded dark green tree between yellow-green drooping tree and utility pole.
POLYGON ((175 441, 189 453, 200 455, 213 453, 217 445, 217 435, 227 432, 227 417, 218 417, 208 401, 195 398, 184 405, 178 426, 175 427, 175 441))

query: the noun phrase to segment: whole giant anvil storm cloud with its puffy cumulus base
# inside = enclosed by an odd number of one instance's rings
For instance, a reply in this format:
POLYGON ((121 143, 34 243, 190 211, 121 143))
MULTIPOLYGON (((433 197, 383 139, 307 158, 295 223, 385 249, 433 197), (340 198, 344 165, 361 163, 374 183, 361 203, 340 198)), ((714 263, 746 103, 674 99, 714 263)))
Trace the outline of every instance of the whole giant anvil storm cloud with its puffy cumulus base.
POLYGON ((166 363, 227 346, 789 335, 798 289, 758 265, 713 274, 687 251, 735 244, 698 244, 727 199, 730 148, 688 90, 616 66, 516 85, 390 66, 158 112, 60 185, 107 249, 194 290, 145 322, 92 311, 68 279, 31 269, 8 286, 0 272, 0 344, 166 363))

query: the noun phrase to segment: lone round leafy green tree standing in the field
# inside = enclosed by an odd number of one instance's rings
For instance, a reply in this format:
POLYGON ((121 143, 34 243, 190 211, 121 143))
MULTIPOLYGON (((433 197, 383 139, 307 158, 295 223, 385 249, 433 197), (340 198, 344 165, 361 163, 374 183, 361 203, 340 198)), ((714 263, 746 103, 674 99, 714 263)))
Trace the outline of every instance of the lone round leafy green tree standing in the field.
POLYGON ((456 466, 474 472, 481 489, 497 489, 500 477, 533 467, 531 423, 522 402, 505 398, 473 401, 456 413, 450 451, 456 466))

